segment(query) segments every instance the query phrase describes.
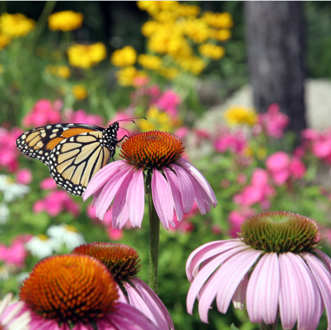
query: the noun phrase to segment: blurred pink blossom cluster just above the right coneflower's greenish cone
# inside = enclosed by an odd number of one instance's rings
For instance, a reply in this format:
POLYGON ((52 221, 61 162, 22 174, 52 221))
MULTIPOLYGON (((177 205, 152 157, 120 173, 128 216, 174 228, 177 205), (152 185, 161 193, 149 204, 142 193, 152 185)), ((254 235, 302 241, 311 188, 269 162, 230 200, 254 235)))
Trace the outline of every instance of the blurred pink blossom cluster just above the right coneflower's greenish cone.
POLYGON ((266 170, 255 169, 250 182, 248 186, 243 188, 241 193, 234 195, 234 202, 246 207, 259 202, 263 209, 268 209, 270 207, 269 199, 273 197, 275 191, 268 183, 268 173, 266 170))

